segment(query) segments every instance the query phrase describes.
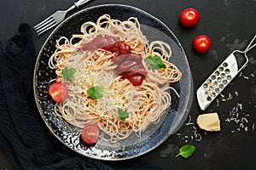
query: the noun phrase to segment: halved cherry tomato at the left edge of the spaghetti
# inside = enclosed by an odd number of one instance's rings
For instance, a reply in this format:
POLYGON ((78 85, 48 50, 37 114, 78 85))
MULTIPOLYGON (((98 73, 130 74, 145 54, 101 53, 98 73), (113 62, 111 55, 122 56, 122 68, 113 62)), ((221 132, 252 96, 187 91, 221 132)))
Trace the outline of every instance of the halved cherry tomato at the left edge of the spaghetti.
POLYGON ((55 102, 61 102, 67 98, 68 89, 61 82, 55 82, 49 86, 48 93, 55 102))

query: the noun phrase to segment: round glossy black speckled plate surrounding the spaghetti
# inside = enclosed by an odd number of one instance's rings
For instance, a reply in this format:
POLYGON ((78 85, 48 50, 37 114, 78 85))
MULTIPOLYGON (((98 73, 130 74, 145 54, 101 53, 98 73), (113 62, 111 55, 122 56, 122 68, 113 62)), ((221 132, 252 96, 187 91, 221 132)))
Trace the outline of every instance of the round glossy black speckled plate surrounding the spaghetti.
POLYGON ((49 130, 70 149, 81 155, 101 160, 125 160, 141 156, 165 141, 183 124, 190 109, 192 100, 191 92, 192 77, 189 63, 177 37, 160 20, 141 9, 131 6, 119 4, 100 5, 85 8, 73 14, 49 35, 38 54, 37 64, 35 65, 35 99, 40 115, 49 127, 49 130), (95 146, 85 147, 79 141, 81 129, 73 127, 73 125, 65 122, 61 117, 55 116, 55 103, 48 95, 49 81, 55 78, 55 71, 49 69, 48 60, 50 55, 55 52, 55 42, 58 38, 63 36, 70 38, 74 33, 80 33, 80 26, 84 22, 95 22, 102 14, 110 14, 113 19, 117 20, 128 20, 131 16, 137 17, 141 23, 143 34, 148 38, 149 42, 161 40, 170 44, 172 48, 171 62, 177 65, 179 70, 182 71, 183 77, 179 82, 171 85, 177 89, 180 98, 177 98, 177 95, 171 92, 171 107, 161 117, 158 124, 148 127, 141 139, 138 139, 135 134, 132 134, 128 139, 120 141, 117 144, 107 144, 99 140, 95 146))

